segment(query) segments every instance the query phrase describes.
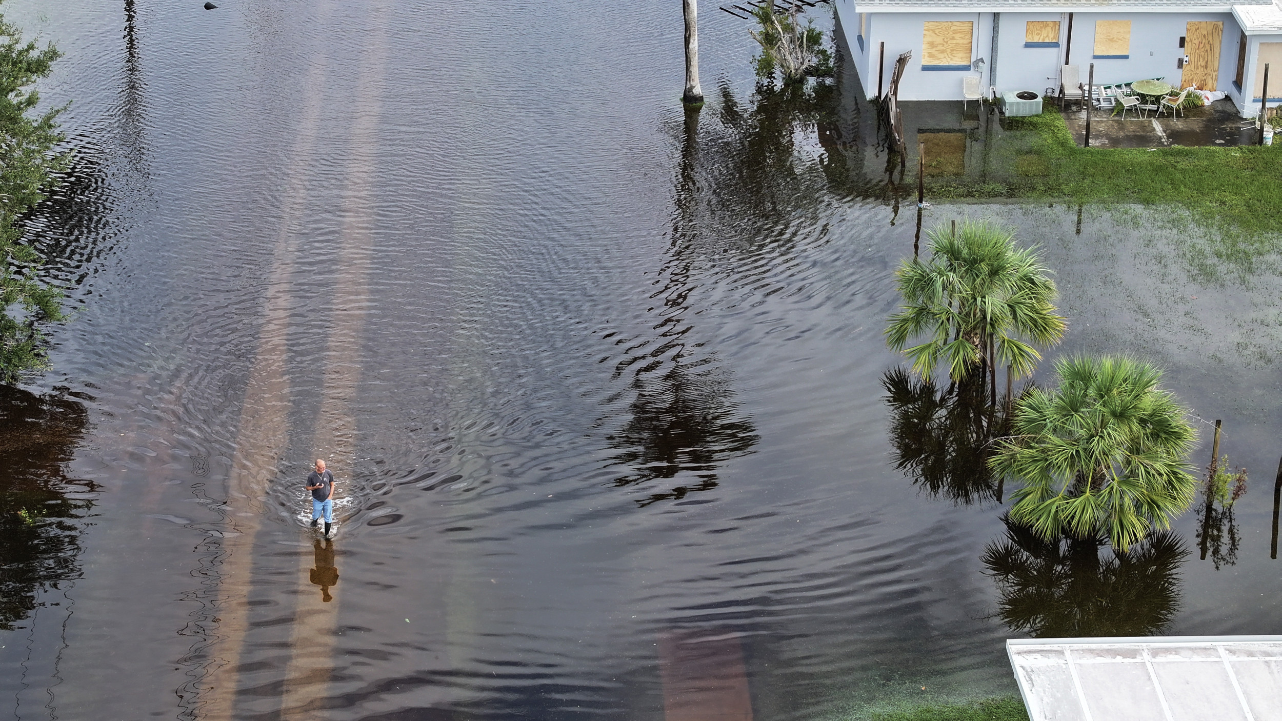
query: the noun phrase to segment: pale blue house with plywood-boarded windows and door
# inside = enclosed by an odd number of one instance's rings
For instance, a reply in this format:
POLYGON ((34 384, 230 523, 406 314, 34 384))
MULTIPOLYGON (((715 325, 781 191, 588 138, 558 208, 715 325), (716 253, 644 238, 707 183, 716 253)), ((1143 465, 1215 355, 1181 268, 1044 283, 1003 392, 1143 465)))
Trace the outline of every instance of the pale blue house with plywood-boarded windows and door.
POLYGON ((1086 82, 1091 63, 1097 85, 1164 77, 1226 92, 1244 117, 1259 113, 1270 63, 1269 104, 1282 100, 1282 0, 835 1, 869 98, 910 50, 900 100, 962 100, 965 76, 986 94, 1058 92, 1061 65, 1086 82))

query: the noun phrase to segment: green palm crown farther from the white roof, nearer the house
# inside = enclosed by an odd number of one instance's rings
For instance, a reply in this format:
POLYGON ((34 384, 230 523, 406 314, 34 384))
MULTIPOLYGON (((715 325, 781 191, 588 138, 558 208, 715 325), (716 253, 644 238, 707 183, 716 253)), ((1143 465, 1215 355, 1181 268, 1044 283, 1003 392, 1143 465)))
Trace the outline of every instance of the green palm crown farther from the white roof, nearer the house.
POLYGON ((1032 375, 1041 359, 1032 344, 1059 343, 1065 327, 1053 304, 1059 291, 1037 254, 983 221, 965 221, 955 235, 940 226, 927 240, 931 259, 904 260, 895 273, 904 305, 890 318, 886 343, 926 380, 940 363, 954 381, 990 371, 994 387, 999 366, 1032 375), (904 348, 918 336, 927 340, 904 348))

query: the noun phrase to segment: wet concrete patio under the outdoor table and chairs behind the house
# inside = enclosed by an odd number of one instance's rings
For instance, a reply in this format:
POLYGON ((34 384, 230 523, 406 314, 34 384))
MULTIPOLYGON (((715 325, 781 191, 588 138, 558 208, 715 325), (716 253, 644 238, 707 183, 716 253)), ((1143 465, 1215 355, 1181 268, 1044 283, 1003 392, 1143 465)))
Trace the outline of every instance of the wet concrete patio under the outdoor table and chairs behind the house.
MULTIPOLYGON (((1185 110, 1183 115, 1172 118, 1163 113, 1155 118, 1150 110, 1147 117, 1127 110, 1126 119, 1120 112, 1092 110, 1092 148, 1169 148, 1172 145, 1254 145, 1259 131, 1255 122, 1242 118, 1229 100, 1217 100, 1203 108, 1185 110)), ((1086 133, 1086 112, 1064 113, 1064 121, 1078 145, 1086 133)))

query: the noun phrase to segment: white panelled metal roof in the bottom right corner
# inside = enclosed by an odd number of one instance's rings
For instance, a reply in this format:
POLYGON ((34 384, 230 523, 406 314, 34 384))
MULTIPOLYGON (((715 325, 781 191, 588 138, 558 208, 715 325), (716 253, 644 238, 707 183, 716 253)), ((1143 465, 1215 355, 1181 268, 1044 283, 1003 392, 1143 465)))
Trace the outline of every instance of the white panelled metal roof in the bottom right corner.
POLYGON ((1011 639, 1032 721, 1282 721, 1282 636, 1011 639))

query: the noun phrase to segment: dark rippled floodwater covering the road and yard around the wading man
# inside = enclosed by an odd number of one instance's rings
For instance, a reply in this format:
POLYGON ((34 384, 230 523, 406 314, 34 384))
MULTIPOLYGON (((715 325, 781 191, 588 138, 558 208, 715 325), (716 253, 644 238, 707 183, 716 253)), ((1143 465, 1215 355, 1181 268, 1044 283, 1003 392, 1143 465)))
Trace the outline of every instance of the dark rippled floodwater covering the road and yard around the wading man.
POLYGON ((67 53, 78 153, 29 223, 77 313, 0 399, 14 718, 845 718, 1011 693, 1009 636, 1282 632, 1267 249, 924 213, 1018 225, 1056 353, 1145 354, 1224 420, 1251 485, 1206 559, 1196 512, 1117 558, 896 467, 915 209, 867 192, 849 73, 754 95, 715 6, 694 117, 658 0, 4 13, 67 53))

